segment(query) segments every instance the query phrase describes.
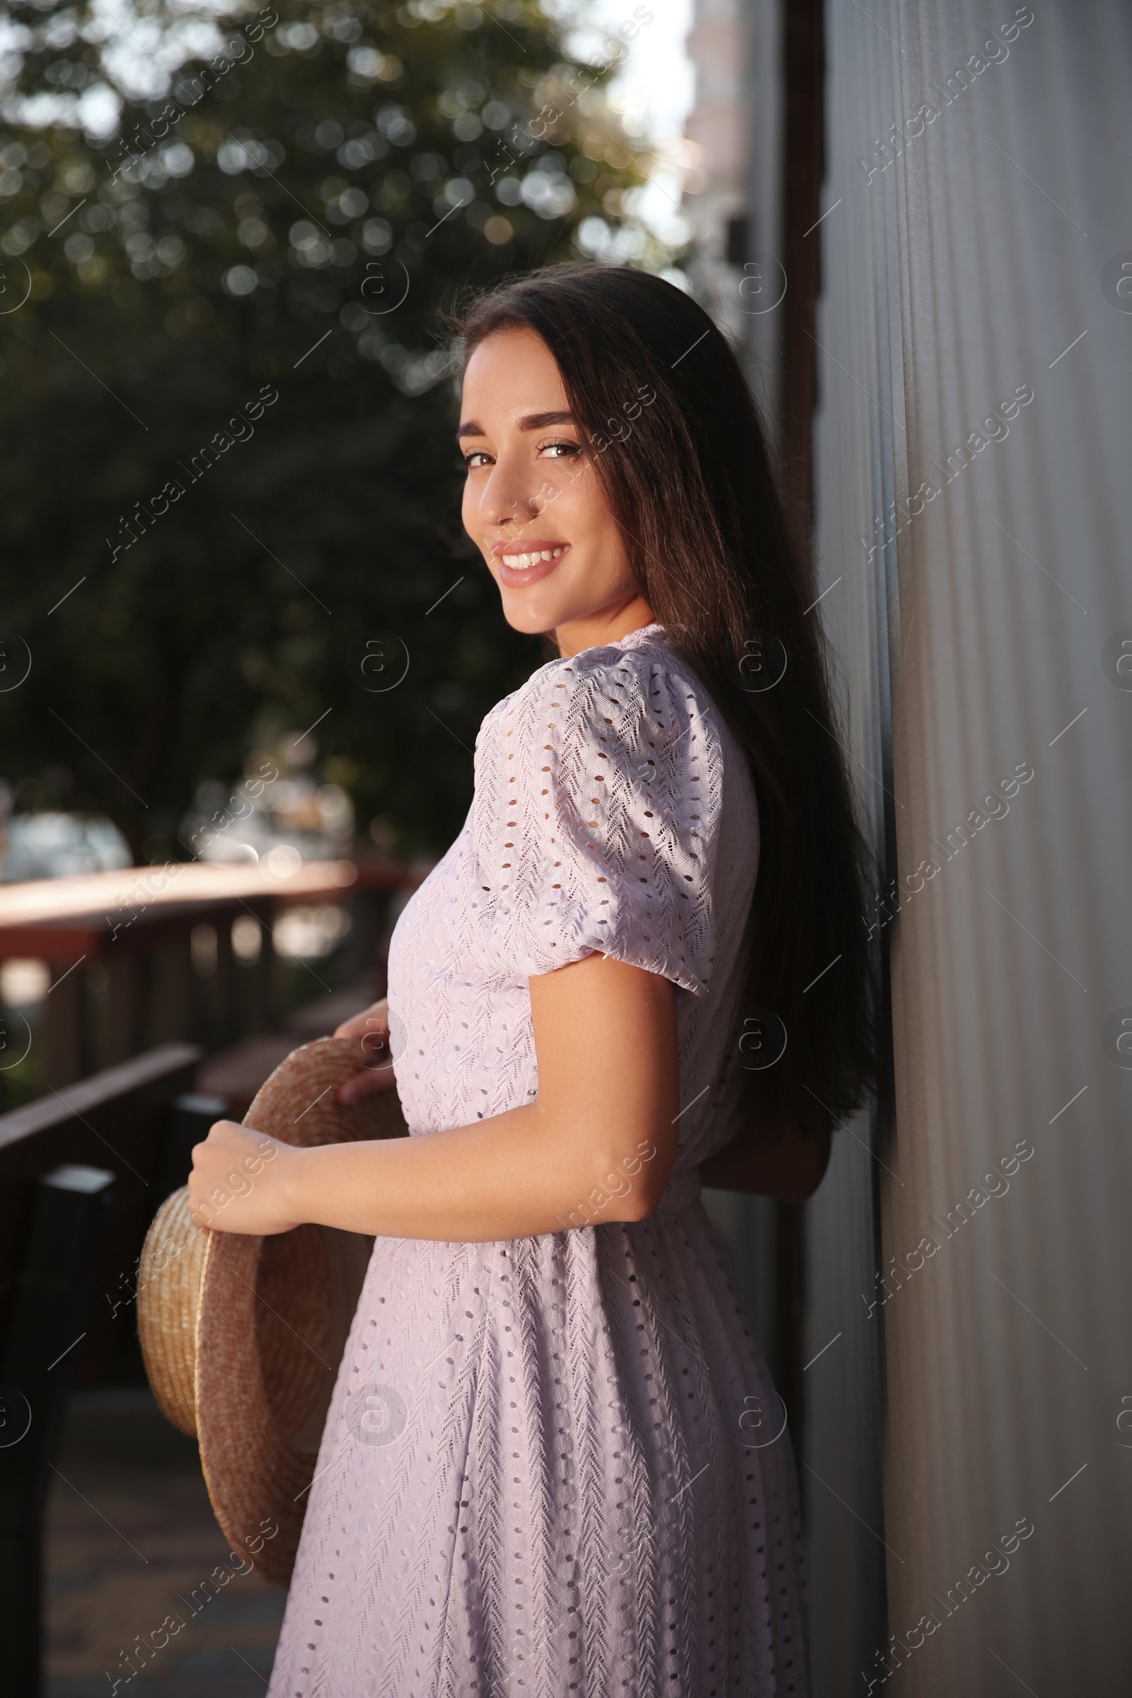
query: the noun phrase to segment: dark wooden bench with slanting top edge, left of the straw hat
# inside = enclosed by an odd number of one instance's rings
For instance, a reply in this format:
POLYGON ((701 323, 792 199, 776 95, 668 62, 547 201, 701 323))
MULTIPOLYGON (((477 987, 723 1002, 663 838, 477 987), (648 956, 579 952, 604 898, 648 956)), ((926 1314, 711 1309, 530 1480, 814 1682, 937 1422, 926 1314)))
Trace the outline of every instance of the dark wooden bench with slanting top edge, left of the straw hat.
POLYGON ((141 1245, 182 1184, 171 1109, 200 1060, 163 1044, 0 1116, 0 1645, 5 1691, 42 1691, 42 1510, 71 1384, 136 1328, 141 1245))

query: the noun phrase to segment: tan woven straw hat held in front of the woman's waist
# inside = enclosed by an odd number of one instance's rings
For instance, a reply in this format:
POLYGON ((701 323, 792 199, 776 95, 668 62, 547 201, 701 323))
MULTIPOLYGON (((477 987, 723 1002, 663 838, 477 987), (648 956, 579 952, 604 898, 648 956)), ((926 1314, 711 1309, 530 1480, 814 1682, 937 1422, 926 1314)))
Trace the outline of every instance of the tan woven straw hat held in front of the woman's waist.
MULTIPOLYGON (((319 1037, 282 1061, 244 1126, 289 1144, 406 1133, 395 1090, 345 1107, 361 1048, 319 1037)), ((329 1226, 205 1231, 188 1187, 158 1209, 137 1268, 137 1333, 163 1414, 200 1445, 233 1550, 287 1586, 338 1365, 373 1240, 329 1226)))

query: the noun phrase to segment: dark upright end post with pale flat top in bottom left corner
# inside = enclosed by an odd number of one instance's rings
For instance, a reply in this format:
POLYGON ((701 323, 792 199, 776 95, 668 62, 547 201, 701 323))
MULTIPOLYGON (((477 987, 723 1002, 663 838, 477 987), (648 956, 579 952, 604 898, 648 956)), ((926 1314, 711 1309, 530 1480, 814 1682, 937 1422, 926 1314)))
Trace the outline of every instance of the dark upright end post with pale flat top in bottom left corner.
POLYGON ((42 1510, 112 1185, 93 1167, 39 1180, 0 1357, 0 1645, 20 1698, 42 1691, 42 1510))

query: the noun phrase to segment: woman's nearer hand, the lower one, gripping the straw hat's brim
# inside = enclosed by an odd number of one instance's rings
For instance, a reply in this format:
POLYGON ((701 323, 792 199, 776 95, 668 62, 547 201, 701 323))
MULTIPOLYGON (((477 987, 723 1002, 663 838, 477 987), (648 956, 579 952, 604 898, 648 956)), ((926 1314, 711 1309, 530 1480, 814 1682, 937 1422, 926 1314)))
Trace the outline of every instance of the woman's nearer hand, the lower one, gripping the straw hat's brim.
POLYGON ((285 1197, 297 1155, 266 1133, 217 1121, 192 1153, 188 1209, 197 1226, 263 1236, 299 1226, 285 1197))

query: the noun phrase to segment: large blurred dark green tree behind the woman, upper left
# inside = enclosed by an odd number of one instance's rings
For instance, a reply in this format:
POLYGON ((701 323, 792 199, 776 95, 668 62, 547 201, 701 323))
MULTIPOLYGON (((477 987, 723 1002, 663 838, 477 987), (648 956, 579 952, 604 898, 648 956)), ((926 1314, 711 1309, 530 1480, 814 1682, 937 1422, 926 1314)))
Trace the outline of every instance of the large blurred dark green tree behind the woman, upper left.
POLYGON ((32 664, 0 686, 0 771, 24 807, 183 854, 202 779, 314 725, 300 754, 385 847, 455 835, 479 722, 543 654, 460 528, 436 309, 577 253, 665 263, 602 93, 650 19, 587 68, 531 0, 12 7, 0 632, 32 664), (409 662, 385 693, 380 633, 409 662))

